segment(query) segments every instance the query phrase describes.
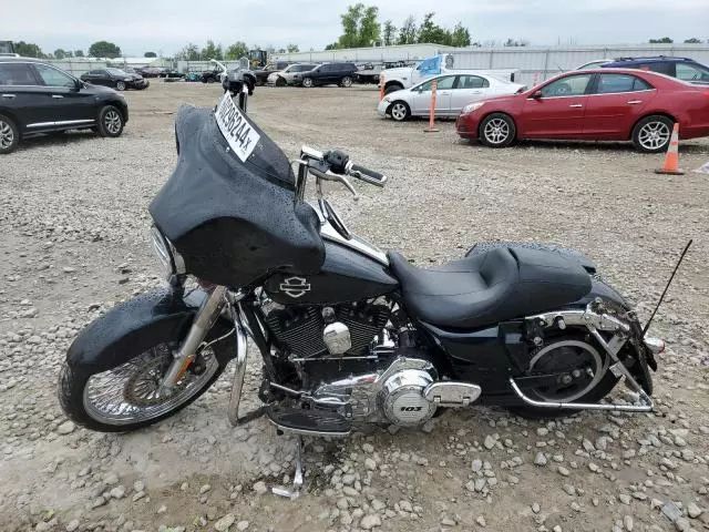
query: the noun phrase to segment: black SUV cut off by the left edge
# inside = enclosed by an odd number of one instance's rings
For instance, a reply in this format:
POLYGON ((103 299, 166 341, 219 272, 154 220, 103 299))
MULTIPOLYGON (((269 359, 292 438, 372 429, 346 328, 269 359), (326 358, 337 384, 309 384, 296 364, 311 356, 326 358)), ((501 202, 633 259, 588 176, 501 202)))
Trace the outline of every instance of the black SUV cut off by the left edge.
POLYGON ((120 136, 129 121, 123 94, 41 61, 0 58, 0 154, 39 133, 92 129, 120 136))

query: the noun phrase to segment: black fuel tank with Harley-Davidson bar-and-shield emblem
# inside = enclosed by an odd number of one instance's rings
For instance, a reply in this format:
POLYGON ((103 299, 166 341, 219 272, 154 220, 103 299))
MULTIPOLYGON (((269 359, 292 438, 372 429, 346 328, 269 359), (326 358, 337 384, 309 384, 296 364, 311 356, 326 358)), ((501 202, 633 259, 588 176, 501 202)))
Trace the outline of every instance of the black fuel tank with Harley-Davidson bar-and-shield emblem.
POLYGON ((382 264, 337 243, 325 242, 325 263, 315 275, 277 273, 264 288, 281 305, 360 301, 397 289, 399 282, 382 264))

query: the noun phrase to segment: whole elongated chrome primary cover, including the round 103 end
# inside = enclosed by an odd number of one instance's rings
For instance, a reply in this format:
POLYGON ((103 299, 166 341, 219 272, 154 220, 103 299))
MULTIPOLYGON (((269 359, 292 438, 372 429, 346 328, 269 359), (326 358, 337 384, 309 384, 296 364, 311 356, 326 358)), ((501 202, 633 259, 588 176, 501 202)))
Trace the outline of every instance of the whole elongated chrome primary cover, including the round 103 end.
POLYGON ((419 424, 435 412, 435 405, 424 397, 435 380, 438 372, 428 360, 397 357, 383 370, 320 385, 312 399, 321 405, 347 403, 346 415, 352 421, 419 424))

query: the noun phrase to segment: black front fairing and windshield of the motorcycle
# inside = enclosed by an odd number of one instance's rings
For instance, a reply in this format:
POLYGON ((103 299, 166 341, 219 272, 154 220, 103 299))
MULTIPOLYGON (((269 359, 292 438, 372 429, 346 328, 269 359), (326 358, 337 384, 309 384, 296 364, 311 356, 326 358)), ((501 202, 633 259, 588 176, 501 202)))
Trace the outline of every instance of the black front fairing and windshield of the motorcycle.
POLYGON ((212 283, 244 287, 284 268, 317 273, 325 260, 318 216, 294 201, 295 176, 285 153, 246 120, 258 141, 242 161, 212 110, 179 110, 179 157, 150 205, 155 225, 183 256, 187 273, 212 283))

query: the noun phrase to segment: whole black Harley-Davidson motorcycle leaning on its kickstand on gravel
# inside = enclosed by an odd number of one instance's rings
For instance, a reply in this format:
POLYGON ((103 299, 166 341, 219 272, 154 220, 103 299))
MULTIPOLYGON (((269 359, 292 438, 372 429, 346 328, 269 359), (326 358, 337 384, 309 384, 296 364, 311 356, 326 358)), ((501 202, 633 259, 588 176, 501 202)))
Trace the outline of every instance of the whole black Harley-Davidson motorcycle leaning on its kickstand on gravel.
POLYGON ((243 112, 244 80, 229 83, 215 110, 178 114, 178 163, 150 206, 169 286, 74 340, 59 393, 72 420, 100 431, 150 426, 204 393, 230 360, 230 421, 265 415, 297 434, 418 426, 474 405, 530 417, 653 410, 648 367, 664 344, 645 336, 590 260, 487 244, 423 269, 383 253, 348 229, 322 182, 354 192, 349 178, 387 177, 339 151, 302 147, 290 163, 243 112), (244 413, 247 337, 263 360, 263 406, 244 413), (620 378, 634 398, 603 401, 620 378))

